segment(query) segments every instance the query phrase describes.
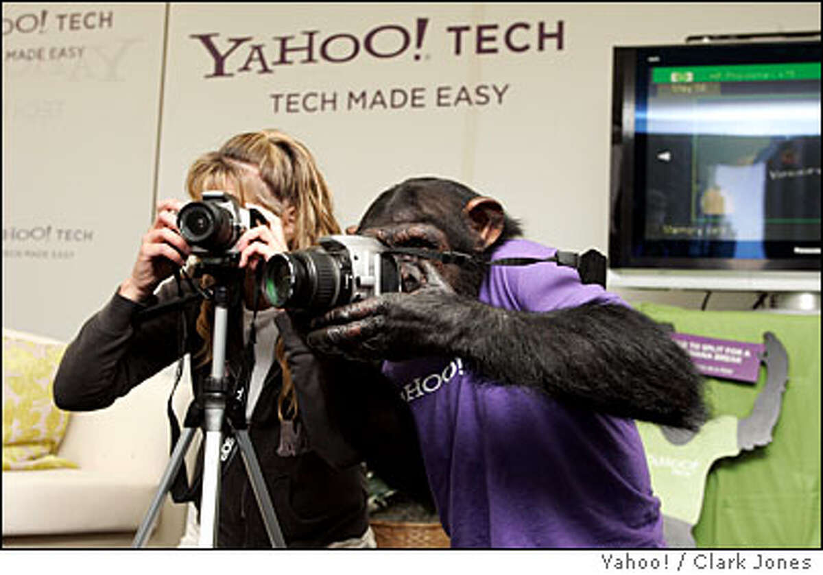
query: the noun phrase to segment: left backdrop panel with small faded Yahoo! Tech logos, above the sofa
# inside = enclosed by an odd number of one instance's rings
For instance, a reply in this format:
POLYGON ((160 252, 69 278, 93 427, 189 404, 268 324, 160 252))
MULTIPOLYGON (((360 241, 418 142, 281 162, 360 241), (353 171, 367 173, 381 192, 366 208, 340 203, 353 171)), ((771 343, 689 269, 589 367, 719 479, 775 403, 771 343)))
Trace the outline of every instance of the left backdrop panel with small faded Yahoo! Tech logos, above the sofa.
POLYGON ((148 225, 165 8, 2 12, 2 322, 66 339, 148 225))

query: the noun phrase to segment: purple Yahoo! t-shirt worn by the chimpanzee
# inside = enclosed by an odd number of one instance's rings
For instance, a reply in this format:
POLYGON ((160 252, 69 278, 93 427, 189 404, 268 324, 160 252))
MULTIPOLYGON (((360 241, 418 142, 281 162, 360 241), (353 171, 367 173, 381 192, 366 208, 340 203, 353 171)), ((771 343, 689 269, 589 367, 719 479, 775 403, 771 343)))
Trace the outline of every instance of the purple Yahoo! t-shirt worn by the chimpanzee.
MULTIPOLYGON (((553 253, 518 239, 493 259, 553 253)), ((599 285, 582 285, 574 269, 550 262, 491 267, 480 299, 528 311, 623 304, 599 285)), ((384 372, 412 407, 453 547, 664 545, 660 502, 633 420, 523 387, 481 385, 456 357, 386 362, 384 372)))

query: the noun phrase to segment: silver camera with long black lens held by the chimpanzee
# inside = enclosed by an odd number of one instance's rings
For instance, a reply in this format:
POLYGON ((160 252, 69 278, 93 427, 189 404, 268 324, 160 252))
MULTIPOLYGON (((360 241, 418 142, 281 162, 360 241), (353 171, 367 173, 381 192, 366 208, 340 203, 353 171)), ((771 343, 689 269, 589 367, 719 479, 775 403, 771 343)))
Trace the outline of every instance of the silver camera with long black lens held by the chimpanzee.
POLYGON ((329 235, 319 246, 278 253, 266 263, 261 290, 276 308, 325 310, 401 291, 388 248, 362 235, 329 235))

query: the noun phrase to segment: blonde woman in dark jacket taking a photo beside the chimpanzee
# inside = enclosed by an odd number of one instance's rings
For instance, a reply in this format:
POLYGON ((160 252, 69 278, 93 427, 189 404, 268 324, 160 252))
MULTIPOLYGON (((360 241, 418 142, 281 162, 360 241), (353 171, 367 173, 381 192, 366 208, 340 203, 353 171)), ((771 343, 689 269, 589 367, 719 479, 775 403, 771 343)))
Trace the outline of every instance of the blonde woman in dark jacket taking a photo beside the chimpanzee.
MULTIPOLYGON (((200 157, 187 178, 194 200, 222 191, 266 222, 244 232, 239 251, 242 297, 230 306, 227 373, 248 382, 249 436, 289 547, 374 546, 366 512, 365 481, 357 452, 342 440, 328 416, 325 372, 297 340, 285 313, 255 297, 254 270, 273 254, 302 248, 325 234, 339 233, 332 200, 314 158, 299 141, 281 132, 241 134, 224 149, 200 157), (289 352, 282 344, 290 339, 289 352)), ((131 276, 95 313, 69 345, 54 383, 58 405, 68 410, 109 406, 117 397, 179 358, 182 327, 188 326, 195 388, 211 364, 212 307, 196 300, 179 313, 133 322, 147 305, 187 294, 186 282, 166 281, 184 267, 191 248, 179 234, 176 216, 184 205, 165 200, 146 235, 131 276)), ((202 277, 203 287, 210 278, 202 277)), ((237 447, 221 468, 217 545, 267 547, 269 541, 237 447)), ((193 483, 198 503, 198 482, 193 483)), ((195 517, 193 517, 195 516, 195 517)), ((189 514, 187 531, 197 531, 189 514)), ((196 540, 195 540, 196 541, 196 540)), ((185 541, 184 541, 185 542, 185 541)))

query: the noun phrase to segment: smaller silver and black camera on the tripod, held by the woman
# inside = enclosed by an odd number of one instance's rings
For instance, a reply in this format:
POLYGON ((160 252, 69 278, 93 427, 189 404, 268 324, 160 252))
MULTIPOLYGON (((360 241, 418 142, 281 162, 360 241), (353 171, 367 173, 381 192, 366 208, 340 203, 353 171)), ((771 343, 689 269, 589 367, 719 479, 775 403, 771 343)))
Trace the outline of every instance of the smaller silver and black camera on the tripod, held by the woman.
POLYGON ((177 215, 177 228, 205 265, 234 267, 240 254, 235 243, 249 228, 265 223, 254 208, 239 205, 225 192, 203 192, 202 202, 188 202, 177 215))

